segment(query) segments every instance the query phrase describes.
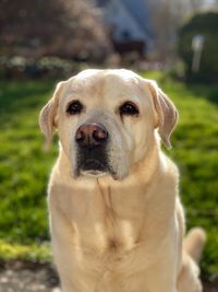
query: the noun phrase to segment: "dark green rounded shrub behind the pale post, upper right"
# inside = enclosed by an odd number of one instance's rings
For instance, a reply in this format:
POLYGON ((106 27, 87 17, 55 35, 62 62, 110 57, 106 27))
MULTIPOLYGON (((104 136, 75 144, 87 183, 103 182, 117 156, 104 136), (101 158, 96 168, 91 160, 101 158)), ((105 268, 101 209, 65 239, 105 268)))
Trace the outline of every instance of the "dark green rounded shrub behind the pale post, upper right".
POLYGON ((179 30, 178 51, 185 63, 186 78, 191 80, 218 80, 218 12, 195 14, 179 30), (199 71, 192 72, 192 38, 195 35, 205 37, 199 71))

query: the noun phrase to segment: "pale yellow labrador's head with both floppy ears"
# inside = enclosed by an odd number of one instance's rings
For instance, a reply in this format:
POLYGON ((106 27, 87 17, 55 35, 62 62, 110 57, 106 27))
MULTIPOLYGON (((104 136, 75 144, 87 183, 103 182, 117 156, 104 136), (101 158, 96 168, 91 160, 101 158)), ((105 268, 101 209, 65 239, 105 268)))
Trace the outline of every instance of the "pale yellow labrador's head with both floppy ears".
POLYGON ((128 70, 85 70, 60 82, 39 124, 51 140, 58 130, 74 177, 124 178, 146 156, 156 136, 170 147, 177 110, 150 80, 128 70))

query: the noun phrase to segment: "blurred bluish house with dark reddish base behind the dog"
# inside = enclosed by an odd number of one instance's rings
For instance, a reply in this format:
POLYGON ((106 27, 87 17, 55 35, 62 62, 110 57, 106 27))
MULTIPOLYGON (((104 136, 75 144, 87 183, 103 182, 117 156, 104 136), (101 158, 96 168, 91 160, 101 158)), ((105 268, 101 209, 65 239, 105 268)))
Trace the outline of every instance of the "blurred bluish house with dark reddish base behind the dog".
POLYGON ((144 58, 153 48, 154 31, 145 0, 95 0, 110 30, 114 49, 121 55, 135 51, 144 58))

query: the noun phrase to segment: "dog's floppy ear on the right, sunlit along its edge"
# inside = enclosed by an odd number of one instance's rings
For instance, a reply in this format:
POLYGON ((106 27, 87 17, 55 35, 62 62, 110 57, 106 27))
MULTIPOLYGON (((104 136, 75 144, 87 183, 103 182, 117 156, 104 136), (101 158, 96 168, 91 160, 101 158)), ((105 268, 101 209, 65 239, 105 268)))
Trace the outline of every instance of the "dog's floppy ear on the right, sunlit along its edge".
POLYGON ((167 95, 158 87, 155 81, 148 81, 154 105, 158 114, 158 125, 160 137, 167 148, 171 148, 170 136, 178 120, 178 110, 167 95))

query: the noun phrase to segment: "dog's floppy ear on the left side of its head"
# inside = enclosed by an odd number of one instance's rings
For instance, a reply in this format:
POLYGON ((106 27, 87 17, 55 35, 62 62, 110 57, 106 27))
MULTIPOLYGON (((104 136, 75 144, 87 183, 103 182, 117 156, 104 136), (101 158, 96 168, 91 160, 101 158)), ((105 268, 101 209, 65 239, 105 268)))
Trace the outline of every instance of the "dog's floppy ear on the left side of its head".
POLYGON ((56 91, 53 93, 53 96, 50 98, 50 101, 43 107, 39 114, 39 126, 43 131, 43 133, 46 136, 46 149, 49 148, 51 141, 52 141, 52 130, 56 126, 55 117, 57 114, 57 108, 59 104, 59 96, 61 94, 61 91, 63 89, 64 82, 59 82, 56 91))

